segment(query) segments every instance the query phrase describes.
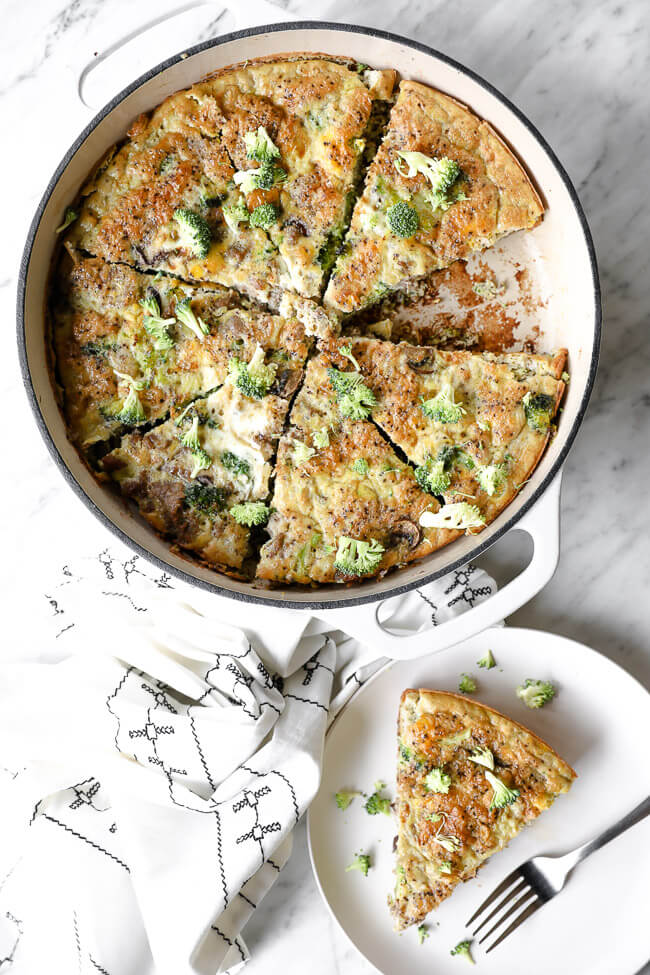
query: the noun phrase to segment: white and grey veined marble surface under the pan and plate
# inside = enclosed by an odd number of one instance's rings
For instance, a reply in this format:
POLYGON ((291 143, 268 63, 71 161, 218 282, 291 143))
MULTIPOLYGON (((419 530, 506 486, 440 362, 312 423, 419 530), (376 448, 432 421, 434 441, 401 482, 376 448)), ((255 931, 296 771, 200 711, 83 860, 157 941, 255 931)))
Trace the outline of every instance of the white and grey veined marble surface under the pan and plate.
MULTIPOLYGON (((242 8, 244 5, 241 5, 242 8)), ((14 340, 15 282, 25 234, 49 175, 89 118, 76 99, 79 70, 169 0, 3 0, 0 157, 0 396, 5 458, 0 479, 6 549, 3 588, 24 592, 68 553, 109 537, 50 462, 22 392, 14 340), (7 557, 9 556, 9 557, 7 557)), ((248 9, 248 8, 247 8, 248 9)), ((290 0, 298 17, 356 21, 430 43, 500 88, 541 129, 577 186, 598 253, 603 288, 601 365, 584 427, 566 465, 562 557, 555 578, 511 619, 588 643, 650 685, 650 307, 647 173, 650 158, 650 13, 645 0, 417 0, 351 5, 290 0)), ((282 14, 277 19, 282 19, 282 14)), ((205 5, 155 43, 133 45, 98 77, 104 100, 183 45, 233 26, 205 5)), ((10 634, 29 643, 29 619, 10 634)), ((362 975, 370 967, 334 929, 319 900, 304 826, 294 856, 245 938, 251 975, 362 975), (269 932, 273 932, 271 935, 269 932)), ((650 971, 650 969, 646 969, 650 971)))

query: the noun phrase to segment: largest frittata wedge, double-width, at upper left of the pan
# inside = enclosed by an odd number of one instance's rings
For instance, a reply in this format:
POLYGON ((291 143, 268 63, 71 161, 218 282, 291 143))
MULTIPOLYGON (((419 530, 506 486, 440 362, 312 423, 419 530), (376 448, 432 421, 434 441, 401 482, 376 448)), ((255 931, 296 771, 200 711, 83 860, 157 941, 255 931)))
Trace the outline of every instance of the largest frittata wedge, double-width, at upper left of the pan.
POLYGON ((318 297, 349 216, 373 102, 395 72, 246 62, 131 126, 84 188, 71 246, 237 287, 318 297))

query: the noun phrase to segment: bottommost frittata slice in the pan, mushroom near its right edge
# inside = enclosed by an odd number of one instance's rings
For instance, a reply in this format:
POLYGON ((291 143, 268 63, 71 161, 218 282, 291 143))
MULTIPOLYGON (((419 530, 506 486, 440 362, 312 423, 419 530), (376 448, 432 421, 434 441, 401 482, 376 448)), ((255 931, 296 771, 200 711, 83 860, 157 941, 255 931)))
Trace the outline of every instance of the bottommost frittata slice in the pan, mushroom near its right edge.
MULTIPOLYGON (((354 416, 337 399, 328 370, 342 371, 334 361, 351 366, 325 354, 309 362, 280 441, 271 539, 261 550, 259 578, 350 582, 421 558, 458 536, 420 527, 425 509, 438 510, 436 499, 364 418, 363 397, 354 416)), ((357 386, 357 398, 359 392, 357 386)))

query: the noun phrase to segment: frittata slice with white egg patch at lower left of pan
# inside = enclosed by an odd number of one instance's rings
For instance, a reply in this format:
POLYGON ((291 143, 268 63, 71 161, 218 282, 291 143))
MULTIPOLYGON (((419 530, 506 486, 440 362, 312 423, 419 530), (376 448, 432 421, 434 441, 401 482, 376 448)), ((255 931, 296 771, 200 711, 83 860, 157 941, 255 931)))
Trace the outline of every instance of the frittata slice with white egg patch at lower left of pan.
POLYGON ((261 375, 232 373, 174 419, 124 437, 102 461, 157 531, 242 577, 252 574, 251 528, 269 515, 271 458, 289 405, 288 390, 278 395, 277 387, 263 393, 263 386, 249 385, 261 375))

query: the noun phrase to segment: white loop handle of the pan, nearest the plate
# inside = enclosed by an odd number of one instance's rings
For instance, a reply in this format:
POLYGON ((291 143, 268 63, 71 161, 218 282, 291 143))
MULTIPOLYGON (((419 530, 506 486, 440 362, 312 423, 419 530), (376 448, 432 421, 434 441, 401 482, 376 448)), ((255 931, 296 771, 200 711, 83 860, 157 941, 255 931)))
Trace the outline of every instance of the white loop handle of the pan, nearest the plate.
MULTIPOLYGON (((560 472, 537 504, 517 522, 533 541, 533 557, 515 579, 494 596, 454 619, 410 635, 393 634, 379 622, 382 603, 354 609, 320 610, 315 615, 376 650, 377 656, 410 660, 437 653, 494 626, 533 598, 551 579, 560 554, 560 472)), ((394 597, 391 597, 394 598, 394 597)))

